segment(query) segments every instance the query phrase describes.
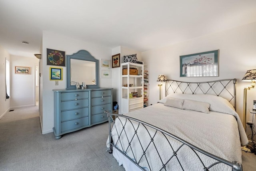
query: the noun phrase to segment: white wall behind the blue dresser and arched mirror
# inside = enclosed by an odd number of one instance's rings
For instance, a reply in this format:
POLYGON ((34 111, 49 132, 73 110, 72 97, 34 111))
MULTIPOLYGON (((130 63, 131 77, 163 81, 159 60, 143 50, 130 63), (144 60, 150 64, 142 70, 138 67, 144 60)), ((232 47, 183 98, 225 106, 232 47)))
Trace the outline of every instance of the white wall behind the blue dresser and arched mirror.
MULTIPOLYGON (((94 58, 99 60, 99 64, 100 59, 112 60, 112 50, 109 48, 54 34, 52 32, 43 32, 42 59, 40 68, 42 77, 42 82, 40 85, 40 94, 42 97, 42 106, 40 106, 40 119, 43 134, 52 132, 52 128, 54 127, 54 94, 52 89, 66 89, 66 67, 62 67, 63 80, 59 81, 59 85, 55 85, 54 81, 50 81, 49 68, 52 66, 46 65, 46 48, 64 51, 66 52, 66 55, 74 54, 79 50, 87 50, 92 56, 94 56, 94 58)), ((100 79, 100 67, 99 82, 100 87, 112 87, 112 79, 100 79)))

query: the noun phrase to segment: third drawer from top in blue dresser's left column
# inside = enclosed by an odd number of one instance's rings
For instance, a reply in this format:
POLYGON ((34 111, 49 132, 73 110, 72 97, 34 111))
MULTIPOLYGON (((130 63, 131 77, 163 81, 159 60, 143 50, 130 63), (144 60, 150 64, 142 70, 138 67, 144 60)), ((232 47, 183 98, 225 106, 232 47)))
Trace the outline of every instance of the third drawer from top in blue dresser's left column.
POLYGON ((66 120, 70 120, 70 119, 76 119, 79 117, 88 116, 89 109, 88 109, 88 107, 84 107, 82 109, 62 111, 60 113, 61 113, 60 121, 66 121, 66 120))

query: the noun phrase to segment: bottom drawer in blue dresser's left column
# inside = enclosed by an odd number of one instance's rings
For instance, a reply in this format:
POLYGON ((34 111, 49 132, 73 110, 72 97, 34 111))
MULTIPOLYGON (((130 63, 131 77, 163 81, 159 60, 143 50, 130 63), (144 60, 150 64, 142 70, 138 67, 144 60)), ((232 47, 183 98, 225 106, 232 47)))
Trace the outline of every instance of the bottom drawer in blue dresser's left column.
POLYGON ((80 119, 65 121, 65 122, 61 123, 61 132, 68 131, 70 129, 75 129, 78 127, 82 127, 84 125, 89 125, 88 117, 82 117, 80 119))

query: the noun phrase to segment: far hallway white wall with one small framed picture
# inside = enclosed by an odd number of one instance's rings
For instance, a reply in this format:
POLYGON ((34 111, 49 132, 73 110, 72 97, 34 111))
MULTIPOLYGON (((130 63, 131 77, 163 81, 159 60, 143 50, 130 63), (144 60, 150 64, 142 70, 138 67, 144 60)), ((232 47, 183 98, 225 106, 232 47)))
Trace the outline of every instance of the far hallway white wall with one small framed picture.
POLYGON ((11 108, 34 106, 35 102, 35 65, 39 60, 31 57, 10 56, 11 108), (15 66, 30 67, 30 74, 15 74, 15 66))

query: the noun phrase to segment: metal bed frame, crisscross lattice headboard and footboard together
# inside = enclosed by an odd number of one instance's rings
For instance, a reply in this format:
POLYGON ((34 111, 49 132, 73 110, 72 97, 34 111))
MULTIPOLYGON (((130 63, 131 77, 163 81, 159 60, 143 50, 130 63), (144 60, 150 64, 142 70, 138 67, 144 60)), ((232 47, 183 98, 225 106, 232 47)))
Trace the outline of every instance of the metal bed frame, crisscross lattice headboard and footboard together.
MULTIPOLYGON (((210 82, 180 82, 180 81, 176 81, 176 80, 168 80, 166 82, 166 94, 168 94, 168 92, 172 91, 173 93, 192 93, 192 94, 214 94, 214 95, 217 95, 217 96, 220 96, 222 95, 224 92, 226 92, 228 94, 228 100, 234 104, 234 107, 236 108, 236 79, 226 79, 226 80, 217 80, 217 81, 210 81, 210 82), (196 85, 196 86, 194 86, 196 85), (205 88, 205 85, 207 86, 207 88, 205 88), (221 85, 221 86, 220 86, 221 85), (230 85, 231 85, 231 89, 233 89, 234 91, 230 91, 230 85), (216 89, 216 86, 220 86, 222 88, 217 88, 216 89)), ((227 97, 227 96, 226 96, 227 97)), ((126 115, 118 115, 118 114, 113 114, 113 113, 109 113, 108 111, 105 111, 105 113, 107 113, 108 115, 108 122, 109 122, 109 142, 110 142, 110 146, 109 146, 109 153, 112 153, 113 152, 113 147, 116 148, 116 150, 118 150, 120 153, 122 153, 125 157, 127 157, 132 163, 134 163, 136 166, 138 166, 138 168, 140 168, 141 170, 144 170, 143 167, 145 166, 141 166, 140 165, 140 161, 142 160, 142 158, 146 159, 146 161, 148 162, 148 169, 150 171, 152 171, 152 168, 150 168, 150 165, 149 165, 149 161, 148 161, 148 155, 147 155, 147 150, 148 150, 148 147, 150 145, 153 145, 154 148, 156 149, 157 153, 158 153, 158 156, 160 161, 162 162, 162 167, 160 167, 158 170, 159 171, 166 171, 166 165, 168 165, 168 163, 170 163, 170 161, 172 161, 172 159, 176 159, 180 165, 180 168, 184 171, 184 168, 182 167, 182 164, 179 160, 179 157, 177 156, 179 150, 182 148, 182 147, 185 147, 187 146, 189 149, 191 149, 192 152, 195 153, 195 155, 198 157, 199 161, 200 161, 200 164, 202 167, 202 170, 203 171, 210 171, 211 168, 214 166, 214 165, 218 165, 218 164, 225 164, 225 165, 228 165, 232 168, 232 171, 242 171, 242 164, 238 161, 227 161, 225 159, 222 159, 216 155, 213 155, 211 153, 208 153, 207 151, 204 151, 198 147, 196 147, 195 145, 192 145, 190 143, 188 143, 187 141, 184 141, 183 139, 173 135, 172 133, 170 132, 167 132, 163 129, 160 129, 154 125, 151 125, 149 123, 146 123, 144 121, 141 121, 141 120, 138 120, 138 119, 135 119, 135 118, 132 118, 132 117, 128 117, 126 115), (112 129, 115 125, 115 120, 112 118, 112 116, 115 116, 116 119, 119 119, 121 117, 124 117, 125 118, 125 122, 122 123, 122 131, 118 132, 118 140, 114 143, 112 141, 112 129), (131 139, 128 139, 128 136, 126 134, 126 130, 124 129, 125 128, 125 125, 126 124, 132 124, 132 127, 133 127, 133 131, 134 131, 134 134, 132 136, 131 139), (112 126, 111 126, 112 125, 112 126), (140 141, 140 138, 138 137, 138 134, 137 134, 137 131, 139 129, 139 127, 143 127, 143 129, 146 129, 146 131, 148 132, 148 135, 150 136, 150 141, 148 142, 148 145, 146 148, 143 148, 142 147, 142 143, 140 141), (149 129, 150 130, 154 130, 154 134, 150 134, 149 133, 149 129), (166 151, 166 153, 170 153, 172 154, 171 157, 169 159, 162 159, 159 152, 158 152, 158 149, 156 148, 156 145, 155 145, 155 141, 157 141, 156 139, 154 139, 156 137, 157 134, 162 134, 164 136, 164 139, 166 141, 166 143, 168 143, 170 145, 170 148, 172 149, 172 151, 166 151), (129 145, 127 148, 125 148, 124 144, 120 141, 120 136, 121 135, 125 135, 128 142, 129 142, 129 145), (142 147, 143 149, 143 153, 141 154, 140 157, 137 158, 136 160, 136 157, 134 155, 134 151, 136 149, 132 149, 132 141, 134 139, 137 139, 138 138, 138 142, 140 143, 140 146, 142 147), (181 145, 180 147, 178 147, 178 149, 176 149, 176 151, 174 150, 174 148, 172 147, 172 144, 171 142, 169 141, 169 139, 176 139, 178 141, 181 142, 181 145), (117 143, 119 143, 119 146, 117 146, 117 143), (130 149, 132 151, 132 154, 133 156, 128 156, 126 154, 126 152, 128 151, 128 149, 130 149), (206 155, 212 159, 215 159, 215 161, 213 163, 211 163, 210 165, 206 165, 206 163, 204 163, 202 161, 202 159, 200 158, 200 155, 199 154, 203 154, 203 155, 206 155), (132 158, 133 159, 132 159, 132 158), (166 161, 166 162, 165 162, 166 161)), ((114 129, 116 129, 116 127, 114 127, 114 129)), ((116 129, 116 132, 117 132, 117 129, 116 129)), ((134 140, 135 141, 135 140, 134 140)))

